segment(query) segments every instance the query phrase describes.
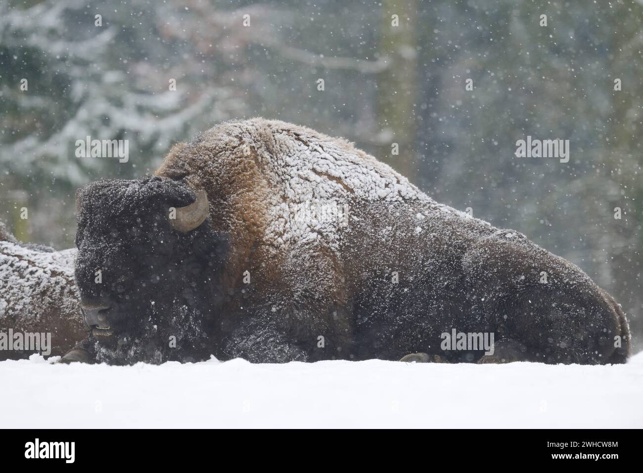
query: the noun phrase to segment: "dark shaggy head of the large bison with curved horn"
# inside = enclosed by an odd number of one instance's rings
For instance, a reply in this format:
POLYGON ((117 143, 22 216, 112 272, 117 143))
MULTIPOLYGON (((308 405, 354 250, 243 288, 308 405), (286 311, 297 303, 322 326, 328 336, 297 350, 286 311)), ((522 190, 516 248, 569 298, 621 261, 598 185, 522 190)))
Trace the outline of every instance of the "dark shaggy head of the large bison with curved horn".
POLYGON ((226 238, 205 192, 160 177, 77 193, 76 281, 98 361, 183 361, 212 353, 226 238))

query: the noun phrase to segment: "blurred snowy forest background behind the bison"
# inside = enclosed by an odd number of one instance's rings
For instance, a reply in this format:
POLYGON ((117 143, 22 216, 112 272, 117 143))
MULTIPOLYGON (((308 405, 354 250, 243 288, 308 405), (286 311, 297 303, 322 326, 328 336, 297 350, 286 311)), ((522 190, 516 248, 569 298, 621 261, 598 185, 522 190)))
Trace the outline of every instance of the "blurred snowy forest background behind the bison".
POLYGON ((0 220, 71 247, 78 186, 278 118, 576 263, 641 346, 642 20, 643 0, 0 0, 0 220), (527 135, 570 161, 517 158, 527 135), (129 139, 129 161, 76 157, 86 136, 129 139))

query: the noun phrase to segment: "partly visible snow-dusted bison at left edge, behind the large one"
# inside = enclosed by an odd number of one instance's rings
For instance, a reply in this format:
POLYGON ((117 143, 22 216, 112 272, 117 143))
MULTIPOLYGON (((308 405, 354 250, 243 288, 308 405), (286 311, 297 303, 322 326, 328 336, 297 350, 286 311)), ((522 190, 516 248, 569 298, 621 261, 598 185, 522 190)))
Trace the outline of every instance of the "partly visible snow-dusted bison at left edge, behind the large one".
MULTIPOLYGON (((51 355, 64 355, 86 334, 74 283, 76 249, 22 244, 0 222, 0 332, 51 333, 51 355)), ((0 361, 32 352, 0 350, 0 361)))

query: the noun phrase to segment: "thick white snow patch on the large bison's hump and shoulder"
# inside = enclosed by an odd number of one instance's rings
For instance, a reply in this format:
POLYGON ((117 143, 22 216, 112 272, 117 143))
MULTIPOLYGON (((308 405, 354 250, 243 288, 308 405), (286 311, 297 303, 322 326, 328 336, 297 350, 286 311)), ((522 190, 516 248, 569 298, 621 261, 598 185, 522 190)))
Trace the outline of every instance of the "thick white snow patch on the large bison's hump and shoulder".
POLYGON ((262 153, 280 189, 271 202, 266 239, 276 245, 325 242, 337 250, 341 234, 360 219, 365 202, 424 201, 436 205, 408 179, 340 139, 306 130, 274 133, 278 152, 262 153))

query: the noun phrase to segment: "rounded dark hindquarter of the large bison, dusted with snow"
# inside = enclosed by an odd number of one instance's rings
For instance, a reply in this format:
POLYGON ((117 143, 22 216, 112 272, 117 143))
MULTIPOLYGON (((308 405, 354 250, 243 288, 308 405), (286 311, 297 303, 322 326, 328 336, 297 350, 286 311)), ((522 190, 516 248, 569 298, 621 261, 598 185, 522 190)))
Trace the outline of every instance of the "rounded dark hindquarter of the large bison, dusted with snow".
POLYGON ((463 260, 492 330, 529 347, 530 361, 624 361, 629 331, 613 299, 572 263, 511 235, 483 240, 463 260))

